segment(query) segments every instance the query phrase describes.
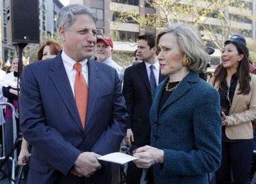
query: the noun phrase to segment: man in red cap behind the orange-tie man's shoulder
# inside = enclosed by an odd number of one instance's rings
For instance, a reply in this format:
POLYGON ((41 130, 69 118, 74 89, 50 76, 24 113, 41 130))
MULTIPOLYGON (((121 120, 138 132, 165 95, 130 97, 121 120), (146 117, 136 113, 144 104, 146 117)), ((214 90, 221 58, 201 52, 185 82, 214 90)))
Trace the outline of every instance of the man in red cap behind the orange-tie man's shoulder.
POLYGON ((120 81, 123 81, 124 70, 112 59, 112 52, 113 52, 112 40, 110 38, 106 38, 102 36, 98 37, 95 51, 96 51, 96 60, 101 63, 105 63, 106 65, 111 66, 112 68, 115 68, 120 81))

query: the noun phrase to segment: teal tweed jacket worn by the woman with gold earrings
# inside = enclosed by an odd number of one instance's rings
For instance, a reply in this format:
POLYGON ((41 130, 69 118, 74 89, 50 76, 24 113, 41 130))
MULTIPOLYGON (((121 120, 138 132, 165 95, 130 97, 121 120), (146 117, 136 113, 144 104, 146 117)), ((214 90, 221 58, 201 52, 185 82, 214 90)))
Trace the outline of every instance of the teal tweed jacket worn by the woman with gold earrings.
POLYGON ((221 163, 219 93, 190 72, 159 109, 165 84, 150 111, 151 145, 164 150, 163 164, 153 169, 155 183, 208 183, 207 173, 221 163))

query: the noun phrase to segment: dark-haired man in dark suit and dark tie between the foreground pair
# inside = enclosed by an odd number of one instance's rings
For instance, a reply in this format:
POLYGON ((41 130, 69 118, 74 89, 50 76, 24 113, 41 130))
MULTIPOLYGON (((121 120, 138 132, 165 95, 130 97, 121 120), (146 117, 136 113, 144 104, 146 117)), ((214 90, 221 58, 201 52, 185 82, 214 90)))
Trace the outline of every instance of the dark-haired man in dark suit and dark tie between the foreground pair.
MULTIPOLYGON (((138 36, 138 40, 137 56, 143 62, 125 70, 123 85, 123 95, 129 114, 125 141, 137 148, 150 144, 149 109, 158 83, 165 78, 160 73, 155 36, 143 34, 138 36)), ((133 162, 128 164, 128 184, 139 184, 144 175, 142 169, 136 167, 133 162)), ((149 171, 148 183, 153 181, 151 175, 149 171)))

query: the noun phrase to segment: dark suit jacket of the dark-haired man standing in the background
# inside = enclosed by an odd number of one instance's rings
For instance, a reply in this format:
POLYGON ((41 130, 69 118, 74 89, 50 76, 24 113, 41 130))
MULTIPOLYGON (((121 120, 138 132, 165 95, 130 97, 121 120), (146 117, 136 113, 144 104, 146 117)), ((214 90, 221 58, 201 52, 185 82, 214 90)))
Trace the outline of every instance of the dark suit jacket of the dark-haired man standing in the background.
MULTIPOLYGON (((165 78, 159 73, 158 82, 162 82, 165 78)), ((126 68, 123 95, 129 114, 127 128, 132 128, 134 135, 132 144, 137 147, 150 144, 149 110, 152 99, 145 62, 126 68)))

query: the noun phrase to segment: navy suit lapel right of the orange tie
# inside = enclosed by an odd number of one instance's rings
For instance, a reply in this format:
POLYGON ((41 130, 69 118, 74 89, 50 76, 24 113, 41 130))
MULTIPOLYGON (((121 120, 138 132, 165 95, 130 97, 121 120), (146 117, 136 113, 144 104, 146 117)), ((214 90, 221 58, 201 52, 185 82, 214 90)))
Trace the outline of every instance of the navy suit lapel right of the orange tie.
POLYGON ((92 118, 92 112, 94 111, 95 105, 98 100, 98 91, 99 91, 99 73, 98 68, 96 66, 96 61, 89 59, 88 61, 88 71, 89 71, 89 101, 87 108, 87 116, 86 116, 86 124, 85 124, 85 133, 89 132, 90 128, 92 128, 92 123, 90 118, 92 118))

